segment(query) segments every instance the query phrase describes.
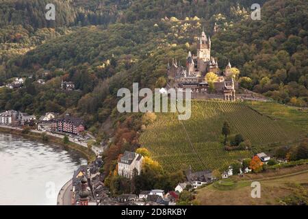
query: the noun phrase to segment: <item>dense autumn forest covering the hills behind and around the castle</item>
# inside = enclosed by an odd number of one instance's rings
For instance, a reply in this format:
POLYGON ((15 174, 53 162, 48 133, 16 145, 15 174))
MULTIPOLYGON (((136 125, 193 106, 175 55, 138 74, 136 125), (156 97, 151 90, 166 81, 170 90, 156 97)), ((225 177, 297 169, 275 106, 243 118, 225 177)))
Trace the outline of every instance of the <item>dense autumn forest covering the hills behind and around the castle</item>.
POLYGON ((100 138, 107 138, 102 124, 112 118, 115 140, 106 153, 105 174, 125 149, 138 148, 142 127, 142 115, 114 110, 117 90, 132 82, 163 86, 168 62, 177 58, 184 64, 203 27, 219 67, 230 60, 240 69, 243 88, 307 106, 307 1, 259 1, 260 21, 251 19, 255 1, 244 0, 53 0, 55 21, 44 18, 47 3, 0 3, 0 86, 26 78, 23 88, 0 88, 0 109, 70 112, 100 138), (60 90, 61 78, 73 81, 76 90, 60 90))

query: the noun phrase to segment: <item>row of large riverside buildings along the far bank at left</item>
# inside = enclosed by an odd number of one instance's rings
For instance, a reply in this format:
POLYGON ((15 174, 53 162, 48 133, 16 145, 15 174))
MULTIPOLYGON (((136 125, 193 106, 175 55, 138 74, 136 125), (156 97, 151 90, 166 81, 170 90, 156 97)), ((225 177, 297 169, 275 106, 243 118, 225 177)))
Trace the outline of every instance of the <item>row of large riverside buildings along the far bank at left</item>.
POLYGON ((69 133, 73 135, 77 135, 85 130, 84 120, 70 116, 70 114, 59 116, 53 112, 47 112, 44 116, 40 116, 37 121, 36 116, 8 110, 0 113, 0 125, 10 127, 24 125, 33 127, 37 125, 38 131, 69 133))

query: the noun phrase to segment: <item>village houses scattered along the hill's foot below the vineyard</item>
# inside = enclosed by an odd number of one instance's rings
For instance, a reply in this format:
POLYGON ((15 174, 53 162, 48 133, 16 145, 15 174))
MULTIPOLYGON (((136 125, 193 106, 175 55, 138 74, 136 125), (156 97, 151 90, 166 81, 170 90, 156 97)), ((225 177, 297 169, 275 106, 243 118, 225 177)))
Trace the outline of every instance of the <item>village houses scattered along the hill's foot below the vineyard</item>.
MULTIPOLYGON (((259 153, 257 156, 262 162, 268 162, 270 156, 265 153, 259 153)), ((134 174, 140 175, 142 170, 142 161, 144 157, 138 153, 125 151, 122 157, 118 159, 118 175, 131 179, 134 174)), ((72 205, 176 205, 179 194, 183 190, 196 189, 201 185, 213 183, 216 178, 211 170, 192 172, 188 168, 185 172, 186 181, 179 183, 174 191, 164 190, 140 191, 140 194, 121 194, 120 196, 110 196, 110 190, 103 183, 103 176, 99 169, 103 166, 101 157, 91 164, 80 166, 73 175, 72 205)), ((251 169, 240 170, 251 172, 251 169)), ((231 166, 222 172, 222 178, 228 178, 233 175, 231 166)))

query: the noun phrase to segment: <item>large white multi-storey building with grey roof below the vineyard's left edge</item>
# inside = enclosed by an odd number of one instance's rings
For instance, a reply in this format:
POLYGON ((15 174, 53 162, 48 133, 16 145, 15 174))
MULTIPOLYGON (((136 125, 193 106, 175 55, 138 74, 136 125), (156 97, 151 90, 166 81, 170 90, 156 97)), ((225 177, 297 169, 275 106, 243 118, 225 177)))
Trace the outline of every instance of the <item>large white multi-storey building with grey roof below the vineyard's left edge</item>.
POLYGON ((138 175, 142 170, 142 155, 130 151, 125 151, 118 162, 118 175, 131 179, 133 177, 133 170, 136 169, 138 175))

